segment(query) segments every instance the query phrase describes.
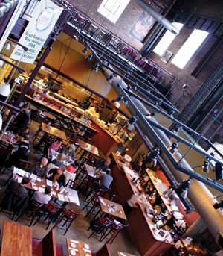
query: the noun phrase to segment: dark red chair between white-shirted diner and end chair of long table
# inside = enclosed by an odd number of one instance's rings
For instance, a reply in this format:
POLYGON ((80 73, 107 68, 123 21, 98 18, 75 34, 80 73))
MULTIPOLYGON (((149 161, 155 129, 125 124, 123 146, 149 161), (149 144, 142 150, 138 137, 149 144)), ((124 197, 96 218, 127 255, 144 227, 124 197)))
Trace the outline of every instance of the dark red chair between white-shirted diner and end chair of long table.
POLYGON ((46 215, 45 221, 48 219, 48 226, 46 229, 48 229, 51 222, 53 222, 59 216, 59 210, 61 209, 62 207, 57 207, 52 203, 48 203, 43 209, 40 209, 36 212, 35 216, 39 215, 39 217, 36 219, 36 222, 33 224, 33 226, 36 225, 37 222, 39 222, 39 219, 41 219, 43 215, 46 215))

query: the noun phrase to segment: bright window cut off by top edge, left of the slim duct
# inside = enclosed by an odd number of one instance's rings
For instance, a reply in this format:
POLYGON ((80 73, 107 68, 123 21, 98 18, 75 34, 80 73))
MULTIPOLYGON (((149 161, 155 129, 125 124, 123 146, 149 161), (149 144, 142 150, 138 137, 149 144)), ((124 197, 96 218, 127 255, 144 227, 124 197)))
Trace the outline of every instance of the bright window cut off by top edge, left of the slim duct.
POLYGON ((114 24, 123 13, 130 0, 103 0, 97 11, 114 24))

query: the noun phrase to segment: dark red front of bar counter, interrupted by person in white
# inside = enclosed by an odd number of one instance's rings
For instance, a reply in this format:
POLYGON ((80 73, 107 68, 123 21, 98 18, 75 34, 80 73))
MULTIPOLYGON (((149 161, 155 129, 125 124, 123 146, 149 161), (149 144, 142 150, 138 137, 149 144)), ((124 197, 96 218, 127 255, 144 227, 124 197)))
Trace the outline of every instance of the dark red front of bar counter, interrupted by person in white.
MULTIPOLYGON (((122 205, 125 205, 126 201, 137 191, 137 188, 132 185, 131 178, 129 177, 129 168, 124 167, 121 169, 119 163, 117 163, 116 155, 112 154, 114 160, 111 162, 111 171, 114 177, 114 184, 120 195, 122 205)), ((169 243, 167 241, 166 235, 161 237, 160 234, 155 234, 155 224, 152 222, 152 218, 145 213, 145 208, 142 204, 138 208, 132 208, 127 218, 141 255, 158 256, 161 253, 167 252, 173 245, 172 242, 169 243)))

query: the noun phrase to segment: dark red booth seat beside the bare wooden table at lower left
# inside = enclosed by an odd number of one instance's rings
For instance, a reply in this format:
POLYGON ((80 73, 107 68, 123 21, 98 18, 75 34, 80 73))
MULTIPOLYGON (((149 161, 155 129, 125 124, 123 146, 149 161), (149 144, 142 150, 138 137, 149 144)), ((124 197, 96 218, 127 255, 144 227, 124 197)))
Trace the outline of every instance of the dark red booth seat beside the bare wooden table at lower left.
POLYGON ((42 239, 33 238, 33 256, 62 256, 62 245, 56 244, 54 228, 42 239))

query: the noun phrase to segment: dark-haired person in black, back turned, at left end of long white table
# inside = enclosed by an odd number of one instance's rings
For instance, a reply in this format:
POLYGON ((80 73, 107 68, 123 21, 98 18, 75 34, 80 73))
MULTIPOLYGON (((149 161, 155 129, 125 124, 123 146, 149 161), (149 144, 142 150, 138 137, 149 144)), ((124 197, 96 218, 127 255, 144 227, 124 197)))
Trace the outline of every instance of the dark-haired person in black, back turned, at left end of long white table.
POLYGON ((22 178, 21 183, 13 179, 7 187, 7 192, 1 201, 0 207, 4 210, 15 210, 18 216, 22 214, 28 205, 28 191, 25 184, 29 182, 30 179, 27 177, 22 178))

